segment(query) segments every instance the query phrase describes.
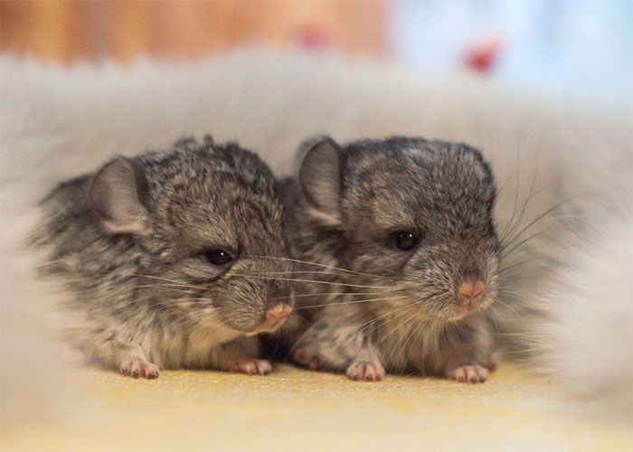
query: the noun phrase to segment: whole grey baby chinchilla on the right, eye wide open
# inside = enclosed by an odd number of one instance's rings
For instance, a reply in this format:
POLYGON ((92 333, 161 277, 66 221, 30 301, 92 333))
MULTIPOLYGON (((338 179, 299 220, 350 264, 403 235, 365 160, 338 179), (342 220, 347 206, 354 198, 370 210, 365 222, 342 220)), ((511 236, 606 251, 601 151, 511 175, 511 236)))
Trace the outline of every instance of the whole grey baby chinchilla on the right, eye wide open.
POLYGON ((353 380, 387 369, 486 381, 500 247, 482 155, 405 137, 304 148, 288 221, 298 256, 319 264, 306 264, 316 282, 298 298, 309 327, 293 359, 353 380))

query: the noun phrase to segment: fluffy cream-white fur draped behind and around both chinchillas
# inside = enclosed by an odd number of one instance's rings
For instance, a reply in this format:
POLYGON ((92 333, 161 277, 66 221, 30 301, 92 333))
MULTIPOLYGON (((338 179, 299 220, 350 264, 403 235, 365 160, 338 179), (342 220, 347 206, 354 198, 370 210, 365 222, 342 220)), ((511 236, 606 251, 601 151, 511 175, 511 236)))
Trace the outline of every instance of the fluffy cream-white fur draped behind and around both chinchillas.
MULTIPOLYGON (((630 231, 630 211, 609 232, 584 232, 588 221, 596 222, 597 206, 600 220, 610 218, 611 206, 631 194, 622 184, 631 176, 627 108, 553 105, 486 80, 429 82, 369 63, 260 51, 177 67, 141 61, 131 68, 64 70, 11 59, 1 65, 3 422, 71 416, 68 400, 80 398, 65 349, 44 330, 51 318, 46 306, 63 294, 34 284, 33 257, 22 250, 37 200, 115 153, 136 155, 205 133, 259 151, 278 174, 291 172, 296 147, 315 133, 344 142, 413 135, 481 148, 500 185, 499 228, 509 225, 507 231, 522 234, 516 243, 524 241, 508 259, 517 266, 517 289, 508 299, 515 306, 531 306, 534 297, 552 300, 562 289, 542 284, 553 274, 543 265, 574 264, 561 277, 573 290, 563 291, 562 304, 548 302, 559 321, 551 325, 560 327, 545 328, 552 338, 546 349, 562 358, 539 365, 562 376, 574 393, 598 390, 591 391, 595 398, 619 388, 619 398, 630 400, 631 240, 622 237, 630 231), (559 202, 555 215, 540 219, 559 202), (581 258, 567 257, 570 244, 581 258), (534 256, 538 265, 523 264, 534 256)), ((514 309, 501 319, 508 329, 514 309)), ((541 326, 522 325, 522 333, 541 326)))

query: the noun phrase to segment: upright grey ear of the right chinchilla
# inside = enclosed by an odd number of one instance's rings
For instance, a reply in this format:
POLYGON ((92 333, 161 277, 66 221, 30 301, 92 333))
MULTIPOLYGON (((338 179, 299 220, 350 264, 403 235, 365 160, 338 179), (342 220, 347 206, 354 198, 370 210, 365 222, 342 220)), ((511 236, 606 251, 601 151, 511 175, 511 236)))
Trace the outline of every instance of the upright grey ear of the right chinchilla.
POLYGON ((310 212, 336 225, 341 221, 341 148, 330 137, 314 138, 303 148, 307 154, 299 167, 299 184, 310 212))

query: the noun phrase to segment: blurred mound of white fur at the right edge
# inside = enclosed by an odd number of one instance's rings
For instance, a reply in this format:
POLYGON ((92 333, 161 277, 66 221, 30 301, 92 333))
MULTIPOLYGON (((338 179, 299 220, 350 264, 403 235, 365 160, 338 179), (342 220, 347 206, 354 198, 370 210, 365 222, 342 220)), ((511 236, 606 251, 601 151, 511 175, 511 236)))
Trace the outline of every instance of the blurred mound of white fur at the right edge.
POLYGON ((621 212, 606 213, 556 272, 543 297, 539 363, 575 399, 609 414, 633 410, 633 215, 630 191, 621 212))

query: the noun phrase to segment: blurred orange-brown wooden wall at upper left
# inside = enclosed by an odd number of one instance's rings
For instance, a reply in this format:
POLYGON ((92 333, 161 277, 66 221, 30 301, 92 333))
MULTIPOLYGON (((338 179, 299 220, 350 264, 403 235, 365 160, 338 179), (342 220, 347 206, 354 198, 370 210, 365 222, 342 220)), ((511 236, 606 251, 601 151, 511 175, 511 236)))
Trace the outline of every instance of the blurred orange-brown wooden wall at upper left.
POLYGON ((191 60, 263 43, 380 57, 386 0, 2 0, 0 50, 71 62, 191 60))

